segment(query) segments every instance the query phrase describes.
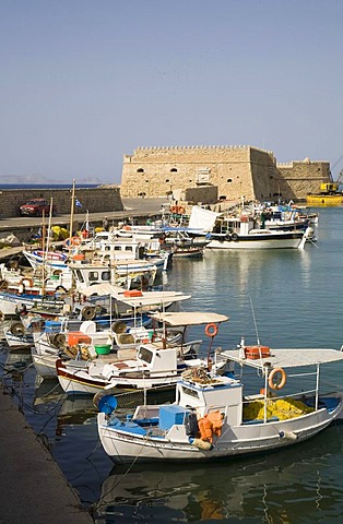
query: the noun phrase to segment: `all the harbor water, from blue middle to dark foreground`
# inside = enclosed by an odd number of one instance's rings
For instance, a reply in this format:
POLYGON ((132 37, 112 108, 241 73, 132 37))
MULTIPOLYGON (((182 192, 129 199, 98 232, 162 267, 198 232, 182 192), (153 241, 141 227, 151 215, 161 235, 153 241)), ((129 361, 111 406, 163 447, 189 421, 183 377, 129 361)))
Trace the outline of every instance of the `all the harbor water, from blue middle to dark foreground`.
MULTIPOLYGON (((341 348, 343 207, 316 211, 318 241, 304 251, 205 251, 203 259, 174 261, 164 285, 192 295, 182 307, 229 317, 215 347, 232 348, 244 336, 272 348, 341 348)), ((208 347, 203 327, 192 334, 208 347)), ((9 355, 3 346, 1 362, 4 384, 98 524, 327 524, 342 517, 339 422, 308 442, 248 458, 114 466, 98 441, 92 398, 67 398, 57 382, 39 383, 25 354, 9 355)), ((322 380, 343 391, 342 366, 322 380)))

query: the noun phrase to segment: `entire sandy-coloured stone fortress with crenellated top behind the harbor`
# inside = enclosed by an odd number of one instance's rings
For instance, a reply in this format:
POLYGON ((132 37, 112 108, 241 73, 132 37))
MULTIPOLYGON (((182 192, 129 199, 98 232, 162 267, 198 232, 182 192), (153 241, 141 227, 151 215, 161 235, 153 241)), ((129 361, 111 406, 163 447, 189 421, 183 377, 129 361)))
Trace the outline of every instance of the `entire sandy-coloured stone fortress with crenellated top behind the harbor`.
MULTIPOLYGON (((330 163, 277 164, 272 152, 250 145, 139 147, 123 156, 121 196, 166 196, 191 188, 226 200, 300 201, 331 180, 330 163)), ((198 200, 206 201, 206 198, 198 200)), ((208 200, 208 202, 211 199, 208 200)))

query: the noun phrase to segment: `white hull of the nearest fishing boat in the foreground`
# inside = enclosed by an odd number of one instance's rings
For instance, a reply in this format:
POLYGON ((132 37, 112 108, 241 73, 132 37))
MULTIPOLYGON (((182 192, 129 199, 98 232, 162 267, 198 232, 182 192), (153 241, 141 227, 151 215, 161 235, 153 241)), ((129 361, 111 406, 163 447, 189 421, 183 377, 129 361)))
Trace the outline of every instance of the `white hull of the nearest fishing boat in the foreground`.
POLYGON ((131 463, 133 460, 134 462, 185 463, 267 452, 303 442, 329 426, 341 409, 340 404, 332 413, 322 408, 288 420, 226 426, 212 450, 202 450, 191 444, 182 427, 179 428, 179 438, 170 441, 163 437, 154 438, 118 430, 107 424, 104 413, 98 414, 97 421, 104 450, 117 464, 131 463), (282 433, 284 433, 283 438, 282 433))

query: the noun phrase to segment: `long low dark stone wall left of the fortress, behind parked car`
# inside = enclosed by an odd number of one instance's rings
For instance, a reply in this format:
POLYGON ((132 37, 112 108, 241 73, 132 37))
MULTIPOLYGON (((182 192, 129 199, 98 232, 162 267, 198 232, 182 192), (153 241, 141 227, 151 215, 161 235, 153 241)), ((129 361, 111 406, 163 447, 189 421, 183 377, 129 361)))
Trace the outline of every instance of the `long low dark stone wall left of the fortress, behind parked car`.
MULTIPOLYGON (((68 214, 71 209, 71 189, 3 189, 0 191, 0 216, 20 216, 19 207, 29 199, 52 198, 56 215, 68 214)), ((75 191, 75 198, 82 207, 75 206, 75 214, 84 214, 104 211, 122 211, 123 205, 120 196, 120 188, 80 188, 75 191)))

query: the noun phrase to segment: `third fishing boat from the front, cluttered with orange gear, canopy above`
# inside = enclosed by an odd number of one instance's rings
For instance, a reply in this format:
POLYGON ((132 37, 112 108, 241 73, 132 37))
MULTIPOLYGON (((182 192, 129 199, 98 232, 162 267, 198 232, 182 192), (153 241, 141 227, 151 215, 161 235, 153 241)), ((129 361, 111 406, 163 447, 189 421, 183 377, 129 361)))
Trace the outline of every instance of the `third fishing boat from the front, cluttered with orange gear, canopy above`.
MULTIPOLYGON (((184 330, 169 329, 165 333, 152 321, 151 313, 163 310, 177 310, 180 302, 188 300, 190 295, 180 291, 138 291, 123 290, 115 286, 95 285, 91 286, 85 293, 90 294, 109 294, 111 315, 108 320, 93 320, 93 315, 88 315, 90 320, 80 321, 75 319, 64 318, 64 320, 48 320, 45 322, 43 332, 34 333, 35 344, 32 347, 32 359, 37 373, 43 378, 56 378, 56 361, 59 357, 62 360, 80 360, 80 367, 84 367, 91 360, 96 358, 96 367, 109 360, 118 360, 125 358, 127 350, 131 350, 130 355, 134 355, 139 345, 143 342, 153 340, 161 341, 162 335, 165 336, 168 345, 174 346, 184 338, 186 342, 187 333, 184 330), (147 314, 150 313, 150 314, 147 314), (78 336, 79 334, 79 336, 78 336), (70 335, 70 336, 69 336, 70 335), (83 347, 80 347, 80 343, 83 347), (102 357, 95 350, 96 345, 110 344, 111 348, 108 355, 102 357), (80 349, 83 349, 82 352, 80 349), (132 352, 133 350, 133 352, 132 352)), ((91 306, 84 306, 90 308, 91 306)), ((86 311, 84 311, 84 317, 86 311)), ((184 350, 188 346, 184 346, 184 350)), ((69 368, 71 362, 69 360, 69 368)), ((72 391, 78 389, 78 378, 68 384, 68 389, 72 391), (75 385, 74 385, 75 382, 75 385)), ((90 390, 92 392, 92 390, 90 390)))

